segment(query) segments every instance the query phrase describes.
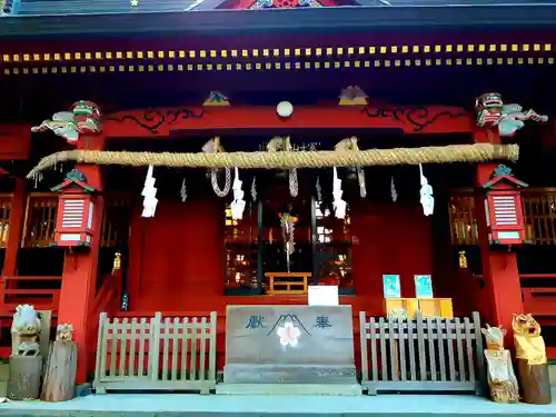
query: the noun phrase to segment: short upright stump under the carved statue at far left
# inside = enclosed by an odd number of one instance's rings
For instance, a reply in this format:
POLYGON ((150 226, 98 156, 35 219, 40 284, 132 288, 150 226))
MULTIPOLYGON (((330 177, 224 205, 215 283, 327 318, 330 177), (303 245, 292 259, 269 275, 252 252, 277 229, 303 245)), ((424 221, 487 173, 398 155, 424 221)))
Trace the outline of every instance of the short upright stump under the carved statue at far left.
POLYGON ((42 356, 11 356, 8 398, 39 398, 41 376, 42 356))

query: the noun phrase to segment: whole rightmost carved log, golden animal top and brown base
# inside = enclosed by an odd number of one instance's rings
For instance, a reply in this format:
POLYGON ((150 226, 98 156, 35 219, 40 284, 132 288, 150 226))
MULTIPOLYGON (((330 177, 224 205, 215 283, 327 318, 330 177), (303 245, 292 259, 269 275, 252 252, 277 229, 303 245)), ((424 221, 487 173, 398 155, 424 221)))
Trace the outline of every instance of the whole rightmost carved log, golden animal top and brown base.
POLYGON ((514 315, 512 327, 523 400, 529 404, 550 404, 550 381, 540 326, 532 315, 514 315))

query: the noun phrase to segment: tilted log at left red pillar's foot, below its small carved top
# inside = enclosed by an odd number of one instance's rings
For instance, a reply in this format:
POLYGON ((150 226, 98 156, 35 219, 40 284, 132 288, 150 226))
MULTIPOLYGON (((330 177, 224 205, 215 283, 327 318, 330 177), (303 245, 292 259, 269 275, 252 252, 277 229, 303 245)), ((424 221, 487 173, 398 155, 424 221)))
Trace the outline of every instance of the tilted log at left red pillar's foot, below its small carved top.
POLYGON ((76 373, 77 344, 70 340, 53 341, 50 345, 40 399, 58 403, 73 398, 76 373))

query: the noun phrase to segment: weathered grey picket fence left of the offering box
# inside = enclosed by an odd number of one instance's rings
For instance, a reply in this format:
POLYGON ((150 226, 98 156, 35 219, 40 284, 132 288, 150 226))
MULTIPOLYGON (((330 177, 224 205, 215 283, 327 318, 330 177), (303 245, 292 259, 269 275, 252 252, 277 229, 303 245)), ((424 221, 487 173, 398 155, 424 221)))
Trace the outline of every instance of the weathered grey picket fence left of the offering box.
POLYGON ((147 320, 109 319, 100 314, 93 386, 107 390, 216 388, 217 314, 147 320))

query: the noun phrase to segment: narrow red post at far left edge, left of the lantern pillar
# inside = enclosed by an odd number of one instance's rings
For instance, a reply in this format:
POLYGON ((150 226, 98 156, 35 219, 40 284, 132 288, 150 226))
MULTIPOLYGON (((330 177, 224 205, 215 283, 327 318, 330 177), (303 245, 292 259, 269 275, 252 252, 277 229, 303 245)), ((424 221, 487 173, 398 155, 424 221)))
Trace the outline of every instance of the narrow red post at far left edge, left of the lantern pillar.
POLYGON ((2 275, 13 277, 18 275, 17 261, 18 250, 21 244, 21 231, 26 216, 27 203, 27 183, 24 179, 16 178, 13 196, 10 207, 10 229, 8 232, 8 241, 6 242, 6 258, 3 262, 2 275))

